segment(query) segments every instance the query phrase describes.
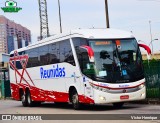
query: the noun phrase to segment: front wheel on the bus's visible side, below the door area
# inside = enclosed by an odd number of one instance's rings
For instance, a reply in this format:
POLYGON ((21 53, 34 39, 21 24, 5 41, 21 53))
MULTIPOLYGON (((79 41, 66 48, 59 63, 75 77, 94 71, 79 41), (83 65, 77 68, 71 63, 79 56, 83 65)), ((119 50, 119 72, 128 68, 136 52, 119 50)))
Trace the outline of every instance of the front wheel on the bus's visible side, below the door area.
POLYGON ((76 90, 72 91, 72 105, 75 110, 80 109, 80 103, 78 99, 78 93, 76 90))

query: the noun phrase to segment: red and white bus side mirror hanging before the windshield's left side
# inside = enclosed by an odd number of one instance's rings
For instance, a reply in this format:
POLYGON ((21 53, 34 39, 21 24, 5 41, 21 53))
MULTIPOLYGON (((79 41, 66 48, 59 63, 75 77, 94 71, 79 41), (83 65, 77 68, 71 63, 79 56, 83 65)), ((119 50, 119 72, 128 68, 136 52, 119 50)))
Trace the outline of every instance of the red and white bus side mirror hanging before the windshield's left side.
POLYGON ((81 51, 83 50, 83 51, 87 52, 90 62, 94 62, 94 52, 93 52, 93 49, 90 46, 82 45, 79 48, 80 48, 81 51))

